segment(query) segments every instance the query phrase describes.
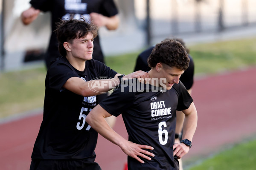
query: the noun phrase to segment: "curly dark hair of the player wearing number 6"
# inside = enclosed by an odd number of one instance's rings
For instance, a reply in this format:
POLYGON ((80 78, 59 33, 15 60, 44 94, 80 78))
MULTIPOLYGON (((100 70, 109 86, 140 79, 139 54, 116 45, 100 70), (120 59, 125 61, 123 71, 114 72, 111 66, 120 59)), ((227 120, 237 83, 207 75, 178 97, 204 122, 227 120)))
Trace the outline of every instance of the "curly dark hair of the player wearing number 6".
POLYGON ((186 70, 189 66, 189 57, 183 45, 175 40, 166 40, 158 43, 150 56, 148 65, 154 68, 157 63, 161 62, 170 67, 177 67, 180 70, 186 70))

